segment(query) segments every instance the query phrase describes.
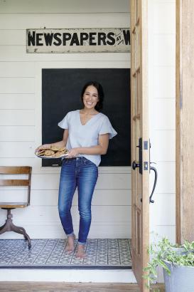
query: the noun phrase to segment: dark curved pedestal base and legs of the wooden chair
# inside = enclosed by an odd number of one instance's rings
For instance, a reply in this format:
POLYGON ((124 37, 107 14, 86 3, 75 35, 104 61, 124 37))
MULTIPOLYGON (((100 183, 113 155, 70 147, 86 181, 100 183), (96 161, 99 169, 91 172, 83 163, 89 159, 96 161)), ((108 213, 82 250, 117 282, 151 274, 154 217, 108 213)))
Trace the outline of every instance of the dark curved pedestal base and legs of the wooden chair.
POLYGON ((26 230, 23 227, 14 225, 11 214, 11 209, 7 209, 7 219, 6 223, 0 227, 0 234, 3 234, 6 231, 14 231, 18 234, 23 234, 24 238, 28 240, 28 249, 31 249, 31 239, 30 236, 26 233, 26 230))

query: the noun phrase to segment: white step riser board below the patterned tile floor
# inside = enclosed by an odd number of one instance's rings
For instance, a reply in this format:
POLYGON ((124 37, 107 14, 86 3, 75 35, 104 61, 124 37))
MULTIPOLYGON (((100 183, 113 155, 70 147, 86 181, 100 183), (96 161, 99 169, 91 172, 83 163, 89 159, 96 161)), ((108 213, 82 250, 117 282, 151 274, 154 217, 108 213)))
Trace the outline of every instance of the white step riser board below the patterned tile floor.
POLYGON ((131 270, 2 268, 0 281, 136 283, 131 270))

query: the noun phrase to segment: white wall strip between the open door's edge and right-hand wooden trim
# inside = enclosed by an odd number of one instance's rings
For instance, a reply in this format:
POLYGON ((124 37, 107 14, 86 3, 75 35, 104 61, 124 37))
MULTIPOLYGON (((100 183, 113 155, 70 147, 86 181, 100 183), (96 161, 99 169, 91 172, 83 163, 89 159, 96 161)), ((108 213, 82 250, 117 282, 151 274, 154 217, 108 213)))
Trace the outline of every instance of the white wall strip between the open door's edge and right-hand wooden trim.
MULTIPOLYGON (((149 0, 149 118, 151 161, 158 184, 151 231, 175 241, 176 1, 149 0)), ((153 174, 151 174, 151 185, 153 174)))

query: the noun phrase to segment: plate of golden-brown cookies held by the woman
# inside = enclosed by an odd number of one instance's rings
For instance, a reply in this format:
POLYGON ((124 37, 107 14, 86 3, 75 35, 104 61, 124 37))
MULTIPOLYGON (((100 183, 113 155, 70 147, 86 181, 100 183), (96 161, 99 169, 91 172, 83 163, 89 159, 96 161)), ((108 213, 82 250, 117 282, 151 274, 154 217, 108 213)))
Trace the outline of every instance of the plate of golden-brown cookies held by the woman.
POLYGON ((67 156, 68 150, 65 147, 51 146, 50 148, 41 148, 35 154, 41 158, 60 158, 67 156))

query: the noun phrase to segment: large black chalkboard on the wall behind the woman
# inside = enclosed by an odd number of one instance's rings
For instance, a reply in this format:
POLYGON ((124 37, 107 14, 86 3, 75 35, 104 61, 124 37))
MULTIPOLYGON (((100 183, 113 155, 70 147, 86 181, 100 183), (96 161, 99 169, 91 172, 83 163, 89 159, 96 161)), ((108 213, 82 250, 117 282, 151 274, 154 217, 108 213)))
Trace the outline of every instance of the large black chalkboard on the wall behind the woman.
MULTIPOLYGON (((70 110, 82 108, 80 93, 87 81, 96 80, 104 89, 102 113, 108 116, 118 132, 109 140, 107 155, 100 166, 131 165, 130 132, 130 69, 126 68, 68 68, 42 71, 42 142, 62 140, 58 127, 70 110)), ((59 160, 42 160, 43 166, 60 165, 59 160)))

